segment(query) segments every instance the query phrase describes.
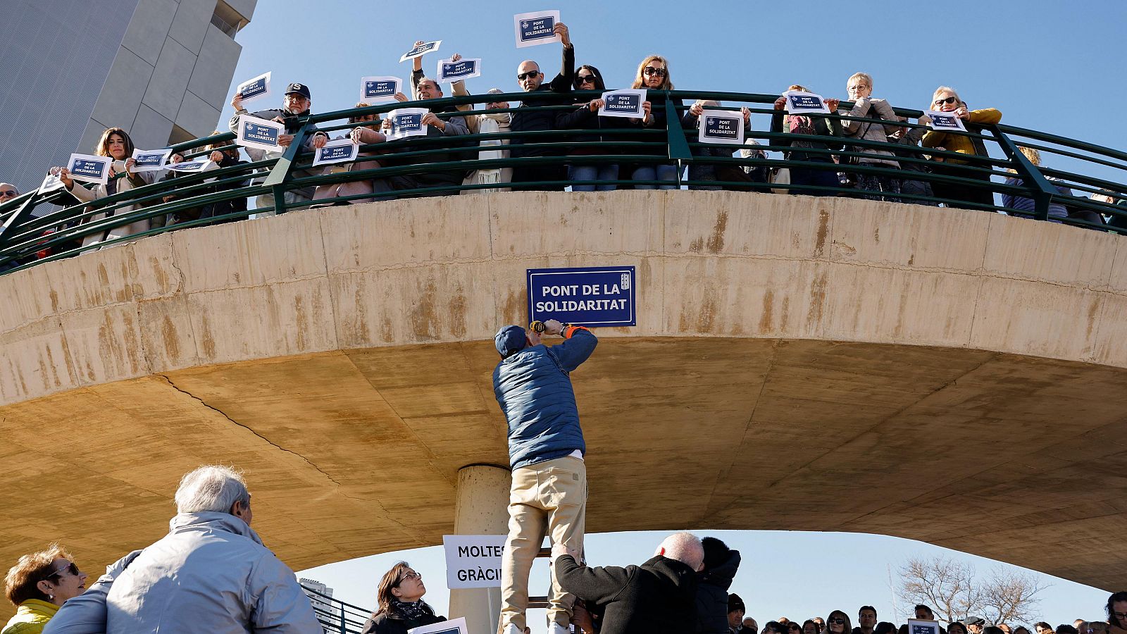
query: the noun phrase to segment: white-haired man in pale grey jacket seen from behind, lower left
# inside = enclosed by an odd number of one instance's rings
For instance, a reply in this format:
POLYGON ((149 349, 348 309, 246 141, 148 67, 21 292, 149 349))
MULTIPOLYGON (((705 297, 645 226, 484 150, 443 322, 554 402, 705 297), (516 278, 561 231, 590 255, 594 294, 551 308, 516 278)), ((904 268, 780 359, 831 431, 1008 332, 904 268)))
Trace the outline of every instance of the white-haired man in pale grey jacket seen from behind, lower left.
POLYGON ((109 566, 44 634, 321 634, 293 571, 250 528, 250 493, 239 473, 188 473, 176 508, 168 535, 109 566))

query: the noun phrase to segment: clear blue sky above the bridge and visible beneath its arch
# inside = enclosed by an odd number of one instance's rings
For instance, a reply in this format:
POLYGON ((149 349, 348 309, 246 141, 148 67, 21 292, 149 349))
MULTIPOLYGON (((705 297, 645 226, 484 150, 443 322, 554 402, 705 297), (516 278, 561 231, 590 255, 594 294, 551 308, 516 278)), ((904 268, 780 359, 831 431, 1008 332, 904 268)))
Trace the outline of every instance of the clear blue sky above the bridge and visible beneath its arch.
MULTIPOLYGON (((259 0, 254 21, 238 36, 242 56, 234 83, 273 71, 275 90, 290 81, 308 83, 314 112, 350 107, 360 78, 396 74, 410 64, 399 55, 415 39, 442 39, 438 54, 424 58, 433 72, 454 52, 481 58, 482 77, 471 93, 498 87, 516 91, 516 65, 540 62, 545 73, 559 64, 559 46, 517 50, 513 14, 560 9, 571 28, 577 63, 600 68, 609 87, 627 86, 649 53, 669 59, 677 88, 779 93, 802 83, 826 96, 845 97, 846 78, 873 76, 875 96, 896 106, 925 107, 939 85, 957 88, 971 107, 996 107, 1003 122, 1050 131, 1113 148, 1127 148, 1118 109, 1127 103, 1121 42, 1127 1, 1055 0, 912 3, 854 2, 360 2, 345 0, 259 0), (1084 106, 1094 91, 1098 105, 1084 106), (1086 112, 1085 112, 1086 111, 1086 112)), ((232 85, 233 91, 233 85, 232 85)), ((281 97, 277 98, 281 100, 281 97)), ((255 107, 275 107, 256 104, 255 107)), ((232 114, 228 106, 222 121, 232 114)), ((753 122, 763 130, 764 118, 753 122)), ((1064 161, 1049 158, 1049 164, 1064 161)), ((1110 168, 1095 175, 1127 180, 1110 168)), ((627 529, 629 527, 622 527, 627 529)), ((707 528, 707 527, 706 527, 707 528)), ((787 531, 699 531, 718 535, 744 554, 734 591, 763 623, 779 616, 825 616, 841 608, 855 614, 872 604, 884 619, 891 614, 888 569, 912 555, 950 553, 903 539, 787 531), (844 574, 831 574, 838 562, 844 574), (833 582, 837 576, 845 582, 833 582)), ((269 543, 269 536, 264 536, 269 543)), ((658 534, 623 532, 588 538, 589 558, 624 565, 649 557, 658 534)), ((985 573, 991 562, 957 554, 985 573)), ((337 589, 338 597, 374 605, 380 575, 407 558, 427 581, 427 599, 446 610, 440 548, 385 554, 302 571, 337 589)), ((539 564, 534 579, 547 583, 539 564)), ((1059 579, 1044 593, 1041 614, 1050 623, 1101 614, 1107 595, 1059 579)), ((533 587, 542 593, 542 588, 533 587)), ((540 613, 542 615, 542 613, 540 613)), ((543 631, 540 615, 532 619, 543 631)))

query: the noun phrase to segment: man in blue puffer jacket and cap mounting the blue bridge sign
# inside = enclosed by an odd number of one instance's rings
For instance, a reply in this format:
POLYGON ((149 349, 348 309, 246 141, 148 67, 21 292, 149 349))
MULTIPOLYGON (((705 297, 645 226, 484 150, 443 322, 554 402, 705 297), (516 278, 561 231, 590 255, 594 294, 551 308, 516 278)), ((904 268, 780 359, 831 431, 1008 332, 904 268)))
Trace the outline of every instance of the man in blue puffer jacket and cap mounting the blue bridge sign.
MULTIPOLYGON (((523 634, 529 605, 529 570, 544 535, 552 544, 583 551, 587 510, 586 446, 579 428, 569 373, 591 356, 598 340, 583 326, 544 322, 544 334, 562 335, 548 347, 540 334, 520 326, 497 331, 502 360, 494 370, 494 393, 508 420, 513 485, 508 497, 508 538, 502 558, 499 634, 523 634)), ((567 632, 575 597, 552 576, 550 634, 567 632)))

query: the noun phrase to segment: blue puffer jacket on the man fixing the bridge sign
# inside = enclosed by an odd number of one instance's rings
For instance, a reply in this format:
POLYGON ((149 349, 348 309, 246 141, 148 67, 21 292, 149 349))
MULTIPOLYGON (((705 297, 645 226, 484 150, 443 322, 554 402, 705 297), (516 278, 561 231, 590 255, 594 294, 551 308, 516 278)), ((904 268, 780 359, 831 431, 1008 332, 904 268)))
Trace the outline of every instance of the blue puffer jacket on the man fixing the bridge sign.
POLYGON ((591 331, 573 327, 561 344, 525 347, 497 363, 494 394, 508 420, 508 459, 514 469, 576 449, 586 452, 568 373, 597 344, 591 331))

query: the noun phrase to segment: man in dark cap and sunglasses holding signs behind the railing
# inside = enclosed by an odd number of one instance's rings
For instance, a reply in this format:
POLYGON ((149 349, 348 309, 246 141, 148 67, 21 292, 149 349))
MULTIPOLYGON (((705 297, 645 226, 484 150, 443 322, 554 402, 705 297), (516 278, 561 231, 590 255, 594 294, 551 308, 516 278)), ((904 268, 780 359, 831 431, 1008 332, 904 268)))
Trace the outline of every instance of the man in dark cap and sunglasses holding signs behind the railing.
MULTIPOLYGON (((290 147, 293 142, 293 135, 301 130, 301 123, 299 123, 298 117, 309 115, 309 107, 313 104, 312 97, 309 94, 309 87, 304 83, 291 83, 286 86, 285 97, 282 100, 282 109, 273 108, 266 111, 258 111, 254 113, 248 113, 242 107, 242 94, 236 93, 234 97, 231 97, 231 106, 234 107, 234 116, 231 117, 230 127, 231 132, 239 132, 239 117, 242 115, 254 116, 257 118, 265 118, 267 121, 273 121, 285 125, 285 134, 278 137, 278 144, 282 147, 290 147)), ((325 132, 317 130, 317 125, 310 125, 309 132, 302 143, 302 149, 305 151, 313 151, 316 148, 321 148, 329 140, 329 135, 325 132)), ((246 148, 247 156, 250 160, 266 160, 272 158, 281 158, 279 152, 267 152, 264 150, 258 150, 254 148, 246 148)), ((304 176, 311 176, 307 170, 295 170, 293 173, 294 178, 301 178, 304 176)), ((313 191, 316 187, 302 187, 300 190, 290 190, 285 193, 286 204, 304 203, 313 199, 313 191)), ((255 199, 255 206, 258 209, 266 209, 267 211, 259 211, 256 215, 274 215, 274 194, 263 194, 255 199)), ((289 208, 290 211, 296 208, 289 208)))

